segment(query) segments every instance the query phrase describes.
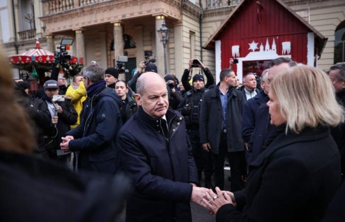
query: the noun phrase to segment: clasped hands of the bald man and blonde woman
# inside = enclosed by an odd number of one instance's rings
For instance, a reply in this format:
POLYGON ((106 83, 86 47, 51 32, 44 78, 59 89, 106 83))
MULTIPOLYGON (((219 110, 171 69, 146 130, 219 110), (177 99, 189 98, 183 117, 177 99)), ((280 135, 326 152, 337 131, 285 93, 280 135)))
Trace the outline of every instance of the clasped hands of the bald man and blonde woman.
POLYGON ((193 186, 191 201, 205 207, 209 214, 216 214, 218 209, 225 204, 236 207, 234 193, 220 190, 218 186, 215 190, 216 193, 211 189, 193 186))

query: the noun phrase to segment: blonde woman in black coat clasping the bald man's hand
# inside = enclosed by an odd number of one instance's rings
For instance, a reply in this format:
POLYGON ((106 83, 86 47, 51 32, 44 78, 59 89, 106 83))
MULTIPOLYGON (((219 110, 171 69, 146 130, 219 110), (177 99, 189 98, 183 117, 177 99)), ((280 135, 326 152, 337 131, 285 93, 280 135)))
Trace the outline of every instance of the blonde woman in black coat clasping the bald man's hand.
POLYGON ((329 126, 344 121, 328 76, 290 68, 275 76, 267 103, 276 132, 249 165, 245 190, 209 191, 217 222, 316 222, 341 182, 340 155, 329 126), (242 207, 240 213, 235 206, 242 207))

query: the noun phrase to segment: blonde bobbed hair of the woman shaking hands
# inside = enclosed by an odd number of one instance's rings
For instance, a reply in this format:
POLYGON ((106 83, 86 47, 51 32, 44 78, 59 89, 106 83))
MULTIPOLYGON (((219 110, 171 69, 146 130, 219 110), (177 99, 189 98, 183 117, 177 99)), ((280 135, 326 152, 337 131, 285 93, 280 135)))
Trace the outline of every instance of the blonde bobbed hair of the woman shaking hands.
POLYGON ((330 78, 316 68, 298 66, 277 74, 270 93, 276 95, 280 112, 286 119, 286 133, 344 122, 344 110, 336 101, 330 78))

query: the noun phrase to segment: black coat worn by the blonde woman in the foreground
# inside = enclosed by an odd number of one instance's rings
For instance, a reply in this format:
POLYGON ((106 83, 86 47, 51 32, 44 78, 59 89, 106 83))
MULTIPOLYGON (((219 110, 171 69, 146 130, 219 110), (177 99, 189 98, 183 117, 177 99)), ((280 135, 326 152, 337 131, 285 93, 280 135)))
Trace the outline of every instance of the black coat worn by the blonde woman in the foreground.
POLYGON ((224 205, 217 222, 321 221, 341 182, 337 145, 325 127, 288 135, 284 128, 249 165, 246 190, 235 193, 243 213, 224 205))

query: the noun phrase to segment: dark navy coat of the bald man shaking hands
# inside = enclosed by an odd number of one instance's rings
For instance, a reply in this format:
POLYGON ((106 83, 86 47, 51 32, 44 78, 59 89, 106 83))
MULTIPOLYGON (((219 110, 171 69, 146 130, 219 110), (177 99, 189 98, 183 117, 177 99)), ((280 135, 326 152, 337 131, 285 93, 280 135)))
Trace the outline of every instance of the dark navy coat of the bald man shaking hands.
POLYGON ((197 169, 182 115, 168 110, 166 118, 168 139, 162 135, 162 119, 141 107, 120 130, 121 164, 135 185, 127 222, 192 221, 189 183, 198 183, 197 169))

